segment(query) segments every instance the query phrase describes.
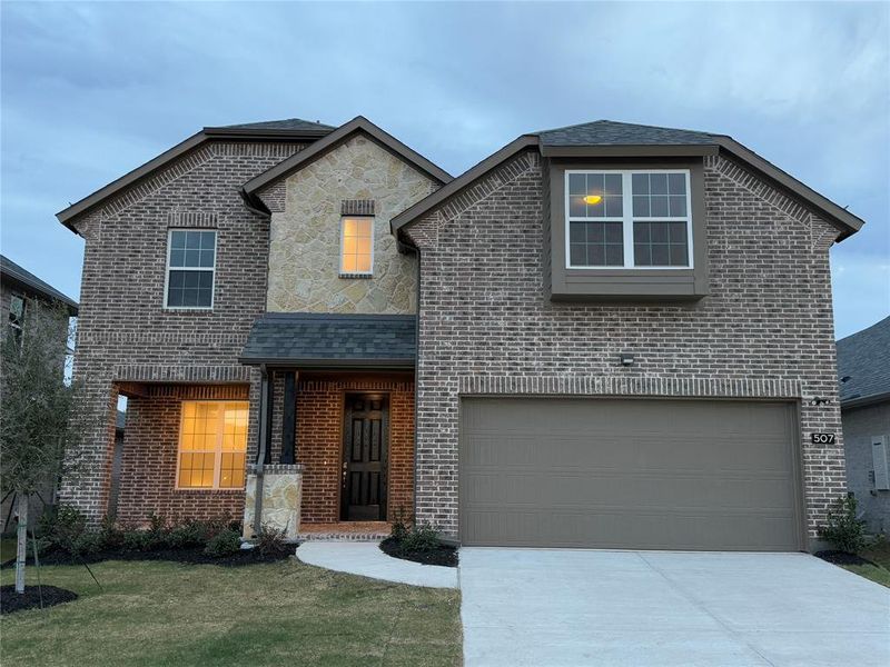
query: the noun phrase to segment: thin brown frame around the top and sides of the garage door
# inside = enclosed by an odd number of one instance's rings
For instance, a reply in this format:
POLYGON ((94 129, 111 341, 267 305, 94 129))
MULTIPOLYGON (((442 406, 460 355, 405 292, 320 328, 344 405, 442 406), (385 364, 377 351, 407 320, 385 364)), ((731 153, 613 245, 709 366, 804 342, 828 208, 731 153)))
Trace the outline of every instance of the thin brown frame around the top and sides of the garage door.
MULTIPOLYGON (((664 396, 664 395, 620 395, 620 394, 461 394, 457 397, 457 540, 463 542, 463 496, 464 484, 466 481, 464 465, 465 459, 462 456, 464 446, 464 436, 466 427, 464 424, 465 411, 463 409, 464 400, 474 399, 576 399, 576 400, 640 400, 640 401, 688 401, 688 402, 770 402, 783 404, 789 407, 789 418, 792 434, 792 442, 790 444, 791 454, 791 472, 794 484, 793 488, 793 509, 797 519, 795 537, 798 539, 798 550, 809 551, 810 540, 808 531, 808 515, 809 515, 809 498, 807 496, 807 487, 804 480, 804 458, 803 458, 803 432, 801 430, 802 422, 802 405, 800 397, 742 397, 742 396, 664 396)), ((518 547, 522 548, 522 547, 518 547)), ((534 548, 534 547, 532 547, 534 548)), ((561 548, 561 547, 554 547, 561 548)), ((744 551, 739 551, 744 552, 744 551)))

